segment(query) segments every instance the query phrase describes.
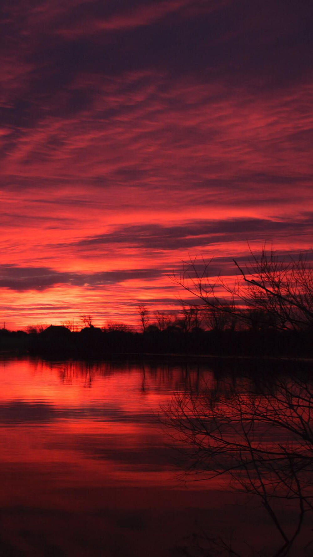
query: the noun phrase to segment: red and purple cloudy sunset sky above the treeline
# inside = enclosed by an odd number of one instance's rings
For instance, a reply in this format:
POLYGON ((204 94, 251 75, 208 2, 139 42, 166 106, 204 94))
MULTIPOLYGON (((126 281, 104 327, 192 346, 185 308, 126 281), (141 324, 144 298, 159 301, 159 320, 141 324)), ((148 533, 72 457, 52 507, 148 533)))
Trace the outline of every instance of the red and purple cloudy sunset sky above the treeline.
POLYGON ((0 327, 136 326, 312 247, 310 0, 2 3, 0 327))

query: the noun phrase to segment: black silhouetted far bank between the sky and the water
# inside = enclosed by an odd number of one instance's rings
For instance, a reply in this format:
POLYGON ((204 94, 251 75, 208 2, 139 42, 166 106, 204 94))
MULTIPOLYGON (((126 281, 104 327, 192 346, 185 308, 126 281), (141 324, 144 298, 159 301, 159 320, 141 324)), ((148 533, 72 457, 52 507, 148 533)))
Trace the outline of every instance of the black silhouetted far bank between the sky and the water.
POLYGON ((312 358, 311 331, 204 331, 176 328, 147 333, 102 331, 96 327, 72 332, 50 326, 41 333, 0 330, 0 350, 31 354, 105 356, 107 354, 177 354, 312 358))

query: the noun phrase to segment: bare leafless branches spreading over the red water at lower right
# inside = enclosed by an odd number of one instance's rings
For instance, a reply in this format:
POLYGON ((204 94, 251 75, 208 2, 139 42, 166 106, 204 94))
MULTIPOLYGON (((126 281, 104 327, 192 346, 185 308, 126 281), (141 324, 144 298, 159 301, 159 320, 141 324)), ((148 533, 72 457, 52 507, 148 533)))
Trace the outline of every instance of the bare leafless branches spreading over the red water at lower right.
MULTIPOLYGON (((185 479, 227 477, 260 502, 280 534, 271 554, 287 555, 313 515, 313 380, 303 373, 254 379, 212 387, 202 378, 196 389, 175 393, 163 408, 165 423, 185 446, 185 479)), ((302 551, 312 551, 307 533, 302 551)), ((223 538, 204 542, 208 551, 238 555, 223 538)))

